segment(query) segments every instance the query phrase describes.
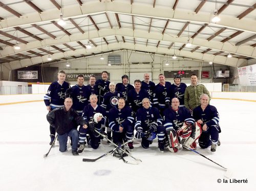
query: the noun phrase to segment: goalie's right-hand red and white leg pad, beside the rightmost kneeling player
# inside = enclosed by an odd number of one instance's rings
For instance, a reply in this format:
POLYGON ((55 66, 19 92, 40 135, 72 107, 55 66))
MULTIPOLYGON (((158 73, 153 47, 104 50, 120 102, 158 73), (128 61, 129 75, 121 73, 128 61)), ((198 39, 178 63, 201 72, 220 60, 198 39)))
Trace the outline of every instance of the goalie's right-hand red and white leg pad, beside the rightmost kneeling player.
POLYGON ((190 126, 191 127, 191 133, 189 135, 189 137, 180 137, 180 143, 186 147, 190 147, 191 144, 193 144, 193 142, 195 142, 201 135, 202 133, 202 127, 199 123, 195 123, 194 125, 190 126))

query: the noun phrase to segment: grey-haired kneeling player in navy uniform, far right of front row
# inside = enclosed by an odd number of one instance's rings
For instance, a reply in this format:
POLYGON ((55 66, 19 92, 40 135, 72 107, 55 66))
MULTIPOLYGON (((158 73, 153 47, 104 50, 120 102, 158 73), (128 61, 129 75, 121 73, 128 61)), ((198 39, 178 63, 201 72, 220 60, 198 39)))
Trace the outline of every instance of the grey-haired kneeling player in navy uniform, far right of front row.
POLYGON ((216 107, 209 105, 209 97, 207 94, 201 94, 201 105, 193 110, 195 120, 202 125, 202 134, 198 140, 199 146, 203 149, 211 146, 210 151, 216 151, 216 145, 220 145, 219 133, 221 128, 219 125, 219 113, 216 107))

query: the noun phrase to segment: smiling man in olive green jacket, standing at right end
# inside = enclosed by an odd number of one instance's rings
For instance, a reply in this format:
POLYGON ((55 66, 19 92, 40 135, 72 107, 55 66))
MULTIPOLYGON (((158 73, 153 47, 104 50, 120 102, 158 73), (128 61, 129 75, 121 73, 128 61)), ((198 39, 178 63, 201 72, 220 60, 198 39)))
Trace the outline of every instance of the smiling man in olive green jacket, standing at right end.
POLYGON ((200 105, 201 94, 207 94, 210 99, 210 93, 203 84, 197 83, 197 75, 191 75, 190 80, 190 86, 186 87, 185 89, 184 102, 185 107, 192 112, 193 109, 200 105))

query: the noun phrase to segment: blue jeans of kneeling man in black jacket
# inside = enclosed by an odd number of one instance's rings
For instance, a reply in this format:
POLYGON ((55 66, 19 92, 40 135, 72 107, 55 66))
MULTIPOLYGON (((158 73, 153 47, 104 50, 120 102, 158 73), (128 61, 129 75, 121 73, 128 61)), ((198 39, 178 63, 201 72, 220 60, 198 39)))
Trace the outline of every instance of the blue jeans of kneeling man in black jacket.
POLYGON ((78 147, 78 131, 72 129, 70 132, 63 135, 58 135, 59 139, 59 151, 65 152, 67 150, 68 136, 72 137, 72 150, 77 150, 78 147))

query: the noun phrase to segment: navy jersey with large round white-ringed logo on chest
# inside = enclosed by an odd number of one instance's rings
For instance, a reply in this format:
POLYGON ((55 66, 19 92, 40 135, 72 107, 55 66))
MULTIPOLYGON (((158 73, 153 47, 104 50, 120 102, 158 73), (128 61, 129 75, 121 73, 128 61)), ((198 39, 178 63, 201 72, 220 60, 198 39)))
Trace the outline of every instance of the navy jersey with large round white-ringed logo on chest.
POLYGON ((117 105, 119 98, 123 98, 123 94, 120 91, 109 91, 104 94, 104 101, 102 107, 105 108, 106 113, 109 113, 110 109, 117 105))

